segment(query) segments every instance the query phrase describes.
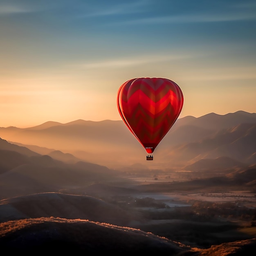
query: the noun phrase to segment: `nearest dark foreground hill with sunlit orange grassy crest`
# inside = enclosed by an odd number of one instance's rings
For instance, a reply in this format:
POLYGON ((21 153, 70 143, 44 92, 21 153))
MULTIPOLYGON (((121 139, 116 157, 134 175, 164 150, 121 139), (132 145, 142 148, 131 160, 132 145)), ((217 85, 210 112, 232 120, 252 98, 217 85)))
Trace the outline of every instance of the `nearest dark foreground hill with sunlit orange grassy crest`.
POLYGON ((0 224, 0 246, 8 253, 112 255, 142 253, 172 256, 247 255, 256 249, 256 239, 242 240, 209 249, 188 247, 139 229, 119 227, 89 220, 35 218, 0 224))

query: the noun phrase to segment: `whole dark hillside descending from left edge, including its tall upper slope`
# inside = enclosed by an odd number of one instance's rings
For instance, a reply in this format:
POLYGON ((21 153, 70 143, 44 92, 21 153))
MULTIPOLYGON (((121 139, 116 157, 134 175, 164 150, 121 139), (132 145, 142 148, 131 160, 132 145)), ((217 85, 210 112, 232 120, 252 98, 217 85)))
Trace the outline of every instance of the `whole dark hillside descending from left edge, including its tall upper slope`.
MULTIPOLYGON (((0 142, 2 148, 13 148, 29 155, 0 150, 0 199, 31 193, 58 192, 67 187, 75 188, 118 178, 117 171, 106 166, 83 161, 65 163, 49 155, 33 154, 25 147, 12 145, 4 140, 0 142)), ((68 154, 67 156, 70 157, 68 154)))

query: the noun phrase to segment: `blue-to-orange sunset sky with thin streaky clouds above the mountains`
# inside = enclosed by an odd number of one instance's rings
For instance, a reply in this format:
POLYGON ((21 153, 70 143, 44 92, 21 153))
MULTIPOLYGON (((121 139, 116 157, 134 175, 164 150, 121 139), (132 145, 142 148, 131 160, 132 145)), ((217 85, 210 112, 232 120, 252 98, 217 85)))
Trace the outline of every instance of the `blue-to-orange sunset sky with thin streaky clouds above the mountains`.
POLYGON ((0 127, 121 120, 117 91, 164 77, 180 117, 256 112, 255 0, 0 0, 0 127))

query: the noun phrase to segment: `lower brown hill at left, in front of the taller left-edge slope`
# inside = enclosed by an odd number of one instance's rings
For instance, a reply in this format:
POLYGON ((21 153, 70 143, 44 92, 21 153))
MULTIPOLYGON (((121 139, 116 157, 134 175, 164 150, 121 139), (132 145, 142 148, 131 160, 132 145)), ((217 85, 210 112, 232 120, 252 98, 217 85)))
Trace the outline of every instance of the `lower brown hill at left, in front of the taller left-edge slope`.
POLYGON ((61 189, 79 188, 94 182, 118 179, 117 173, 105 166, 84 162, 79 166, 63 162, 59 164, 51 159, 49 156, 43 156, 42 163, 35 161, 36 164, 23 164, 2 173, 0 199, 32 193, 58 192, 61 189))

